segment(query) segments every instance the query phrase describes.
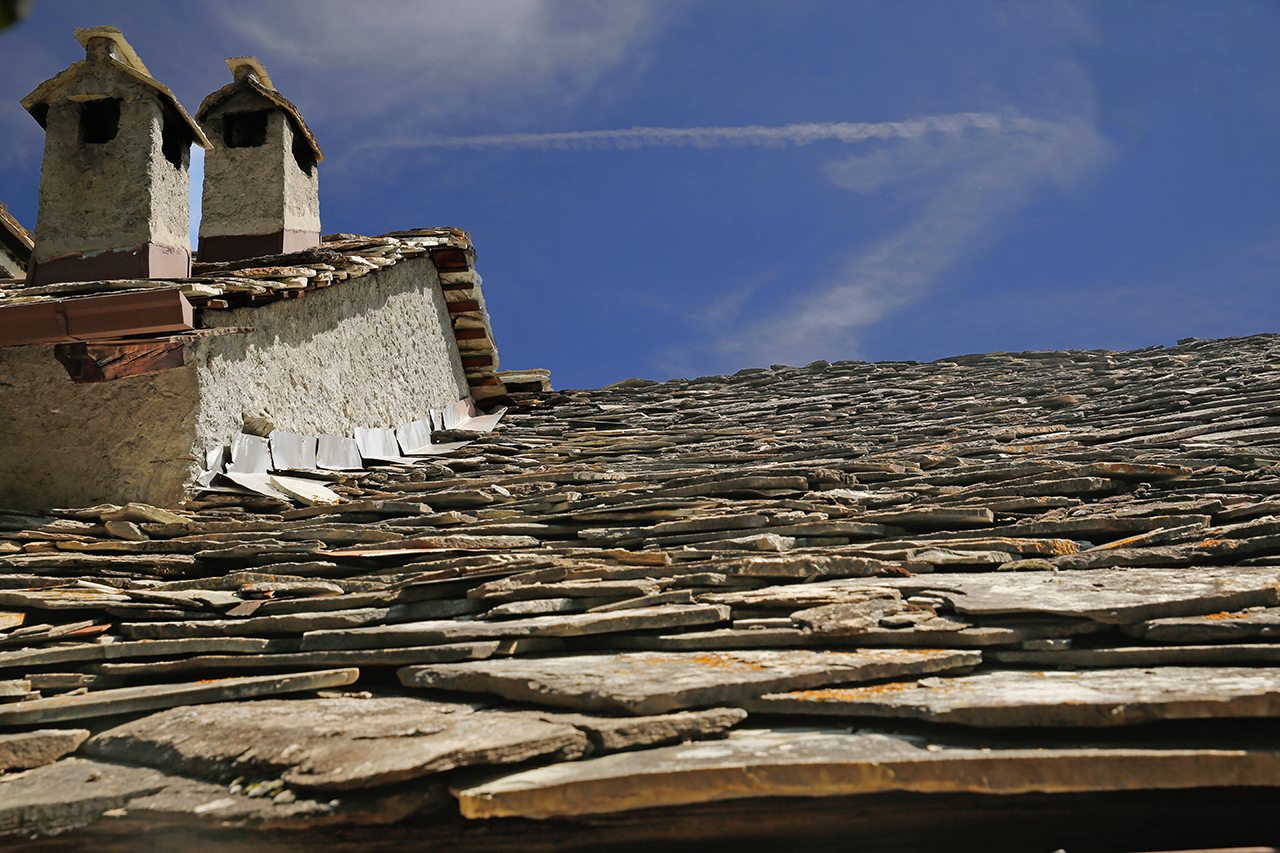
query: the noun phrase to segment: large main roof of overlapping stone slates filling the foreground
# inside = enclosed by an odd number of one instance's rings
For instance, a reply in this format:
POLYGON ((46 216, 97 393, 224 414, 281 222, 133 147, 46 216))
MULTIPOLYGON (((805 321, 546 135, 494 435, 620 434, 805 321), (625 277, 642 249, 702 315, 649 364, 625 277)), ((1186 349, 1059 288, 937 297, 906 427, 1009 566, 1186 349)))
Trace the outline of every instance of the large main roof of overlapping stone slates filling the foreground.
POLYGON ((1143 839, 1210 803, 1220 834, 1176 838, 1251 843, 1240 803, 1280 784, 1277 357, 631 379, 513 394, 452 455, 334 475, 337 507, 0 515, 0 833, 566 849, 1160 789, 1143 839))

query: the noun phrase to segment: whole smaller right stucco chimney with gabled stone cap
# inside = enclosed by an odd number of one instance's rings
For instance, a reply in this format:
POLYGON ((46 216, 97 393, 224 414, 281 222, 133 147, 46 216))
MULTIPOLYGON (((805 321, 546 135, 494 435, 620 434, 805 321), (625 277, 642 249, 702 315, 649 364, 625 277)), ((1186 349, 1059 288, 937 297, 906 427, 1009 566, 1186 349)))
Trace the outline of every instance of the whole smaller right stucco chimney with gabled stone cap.
POLYGON ((236 82, 205 99, 196 119, 205 158, 200 260, 294 252, 320 243, 320 146, 298 108, 253 56, 227 60, 236 82))

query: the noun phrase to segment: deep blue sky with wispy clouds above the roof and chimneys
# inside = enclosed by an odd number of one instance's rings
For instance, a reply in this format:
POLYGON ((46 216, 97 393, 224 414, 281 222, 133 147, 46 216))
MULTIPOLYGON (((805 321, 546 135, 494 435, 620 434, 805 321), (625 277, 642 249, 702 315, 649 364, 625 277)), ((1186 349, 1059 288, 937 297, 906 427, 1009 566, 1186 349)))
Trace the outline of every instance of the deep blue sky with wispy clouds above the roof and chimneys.
POLYGON ((119 27, 195 111, 259 56, 325 232, 472 233, 557 387, 1280 332, 1280 3, 40 0, 17 101, 119 27))

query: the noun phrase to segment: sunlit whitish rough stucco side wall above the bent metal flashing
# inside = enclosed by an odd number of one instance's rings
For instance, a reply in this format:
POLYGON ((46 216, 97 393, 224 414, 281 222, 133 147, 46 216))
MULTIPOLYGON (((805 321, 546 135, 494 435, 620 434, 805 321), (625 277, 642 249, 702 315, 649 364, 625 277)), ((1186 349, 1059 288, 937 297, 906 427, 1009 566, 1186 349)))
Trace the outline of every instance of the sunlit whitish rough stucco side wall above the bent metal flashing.
POLYGON ((228 443, 246 415, 297 433, 349 435, 417 420, 468 393, 428 257, 300 300, 205 311, 204 323, 253 332, 206 338, 196 350, 200 450, 228 443))

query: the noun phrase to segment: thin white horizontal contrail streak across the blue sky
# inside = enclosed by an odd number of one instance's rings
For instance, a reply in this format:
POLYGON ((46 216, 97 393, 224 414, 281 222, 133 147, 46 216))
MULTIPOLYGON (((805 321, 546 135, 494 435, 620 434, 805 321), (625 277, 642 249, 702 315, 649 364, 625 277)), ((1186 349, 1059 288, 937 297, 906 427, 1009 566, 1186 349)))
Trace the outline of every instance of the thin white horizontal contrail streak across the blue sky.
POLYGON ((625 131, 571 131, 567 133, 493 133, 486 136, 435 136, 387 141, 379 147, 412 149, 541 149, 599 150, 657 146, 714 149, 727 146, 783 147, 827 140, 863 142, 920 137, 929 132, 957 133, 966 128, 986 131, 1037 131, 1034 119, 1009 119, 995 113, 954 113, 906 122, 813 122, 781 127, 632 127, 625 131))

